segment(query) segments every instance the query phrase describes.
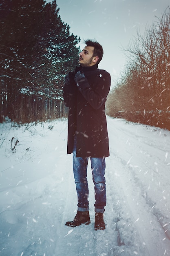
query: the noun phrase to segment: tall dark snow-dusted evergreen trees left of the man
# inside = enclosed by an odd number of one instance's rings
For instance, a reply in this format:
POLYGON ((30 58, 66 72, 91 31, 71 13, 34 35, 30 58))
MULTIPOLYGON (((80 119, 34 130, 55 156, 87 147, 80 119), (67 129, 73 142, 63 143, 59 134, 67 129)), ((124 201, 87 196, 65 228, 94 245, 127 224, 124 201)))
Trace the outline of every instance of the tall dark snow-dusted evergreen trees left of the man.
POLYGON ((77 63, 80 38, 62 22, 56 1, 0 1, 0 121, 66 115, 64 76, 77 63))

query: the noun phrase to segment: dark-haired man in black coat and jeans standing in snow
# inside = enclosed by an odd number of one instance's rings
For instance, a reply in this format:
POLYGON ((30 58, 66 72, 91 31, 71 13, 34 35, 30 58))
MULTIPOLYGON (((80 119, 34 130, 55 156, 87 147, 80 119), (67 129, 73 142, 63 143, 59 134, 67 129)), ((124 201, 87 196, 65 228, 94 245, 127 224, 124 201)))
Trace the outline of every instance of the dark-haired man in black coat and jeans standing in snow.
POLYGON ((86 40, 79 53, 79 67, 65 77, 64 103, 68 110, 67 153, 73 153, 73 172, 77 190, 77 214, 70 227, 90 224, 87 164, 91 159, 95 185, 95 229, 105 229, 106 206, 105 157, 109 156, 105 101, 110 90, 110 74, 99 70, 103 48, 95 40, 86 40))

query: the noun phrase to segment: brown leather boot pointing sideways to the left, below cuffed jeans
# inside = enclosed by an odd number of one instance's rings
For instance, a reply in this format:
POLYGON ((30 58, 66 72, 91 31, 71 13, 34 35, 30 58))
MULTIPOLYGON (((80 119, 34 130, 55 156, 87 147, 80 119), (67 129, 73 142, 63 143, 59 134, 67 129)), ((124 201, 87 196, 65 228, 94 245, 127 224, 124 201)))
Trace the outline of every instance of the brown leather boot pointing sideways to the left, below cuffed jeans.
POLYGON ((81 224, 88 225, 90 224, 90 216, 89 216, 89 211, 77 211, 77 214, 74 218, 73 221, 67 221, 66 225, 69 227, 76 227, 81 224))

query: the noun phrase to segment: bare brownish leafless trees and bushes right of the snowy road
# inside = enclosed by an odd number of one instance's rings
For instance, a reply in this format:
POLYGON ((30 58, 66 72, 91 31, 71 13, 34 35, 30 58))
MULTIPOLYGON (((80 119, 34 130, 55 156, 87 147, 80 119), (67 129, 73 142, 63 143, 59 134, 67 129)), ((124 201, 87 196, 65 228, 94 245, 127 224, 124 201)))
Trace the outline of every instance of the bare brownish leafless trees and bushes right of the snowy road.
POLYGON ((128 61, 107 114, 170 130, 170 8, 124 49, 128 61))

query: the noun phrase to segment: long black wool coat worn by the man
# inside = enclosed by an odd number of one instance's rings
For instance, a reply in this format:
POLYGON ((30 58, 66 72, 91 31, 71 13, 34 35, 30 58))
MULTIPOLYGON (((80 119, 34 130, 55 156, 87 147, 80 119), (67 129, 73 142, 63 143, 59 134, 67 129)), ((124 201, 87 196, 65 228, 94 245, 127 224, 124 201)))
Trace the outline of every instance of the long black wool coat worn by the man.
POLYGON ((110 74, 93 65, 76 67, 71 76, 70 85, 63 88, 64 103, 69 108, 67 153, 73 152, 76 132, 77 157, 108 157, 105 102, 110 90, 110 74), (74 76, 79 70, 85 79, 77 86, 74 76))

